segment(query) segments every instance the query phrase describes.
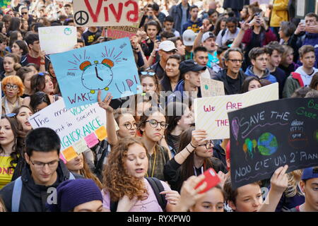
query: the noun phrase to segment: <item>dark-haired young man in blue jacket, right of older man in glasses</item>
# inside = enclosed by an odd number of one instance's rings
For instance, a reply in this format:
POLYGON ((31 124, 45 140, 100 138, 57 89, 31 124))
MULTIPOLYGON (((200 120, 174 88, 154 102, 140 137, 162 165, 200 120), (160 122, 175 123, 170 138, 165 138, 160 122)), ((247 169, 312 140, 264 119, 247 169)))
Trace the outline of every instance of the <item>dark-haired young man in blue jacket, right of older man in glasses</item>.
POLYGON ((250 65, 245 73, 247 76, 254 76, 259 79, 266 79, 271 83, 277 83, 276 77, 269 73, 267 64, 269 61, 269 54, 264 47, 254 47, 249 51, 250 65))

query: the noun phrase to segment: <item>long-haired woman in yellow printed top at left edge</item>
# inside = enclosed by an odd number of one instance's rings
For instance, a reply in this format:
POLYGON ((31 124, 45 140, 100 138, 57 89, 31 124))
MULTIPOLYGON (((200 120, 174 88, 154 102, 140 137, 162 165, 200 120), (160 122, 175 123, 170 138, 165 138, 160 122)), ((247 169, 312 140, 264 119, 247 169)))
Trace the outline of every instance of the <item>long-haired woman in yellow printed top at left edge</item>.
POLYGON ((0 121, 0 190, 11 182, 18 158, 23 153, 23 139, 19 136, 20 124, 15 118, 4 115, 0 121))

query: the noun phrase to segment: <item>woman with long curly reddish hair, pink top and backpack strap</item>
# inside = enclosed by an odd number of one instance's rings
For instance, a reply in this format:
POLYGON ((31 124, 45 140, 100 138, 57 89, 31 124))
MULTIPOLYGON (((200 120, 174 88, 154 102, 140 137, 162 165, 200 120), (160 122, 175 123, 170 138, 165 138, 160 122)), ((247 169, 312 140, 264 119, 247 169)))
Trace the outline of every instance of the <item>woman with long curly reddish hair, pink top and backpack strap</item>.
POLYGON ((143 143, 136 138, 122 139, 110 153, 103 172, 103 208, 117 212, 171 211, 179 194, 163 181, 145 178, 147 170, 143 143))

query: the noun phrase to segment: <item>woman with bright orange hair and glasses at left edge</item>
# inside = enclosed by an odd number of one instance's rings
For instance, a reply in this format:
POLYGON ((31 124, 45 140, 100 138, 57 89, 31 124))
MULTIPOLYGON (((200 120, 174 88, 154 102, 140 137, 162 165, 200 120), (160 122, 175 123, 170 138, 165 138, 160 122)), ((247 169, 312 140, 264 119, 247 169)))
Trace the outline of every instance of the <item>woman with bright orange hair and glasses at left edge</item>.
POLYGON ((5 96, 2 98, 2 114, 9 114, 15 107, 20 107, 24 93, 24 85, 18 76, 8 76, 2 80, 2 90, 5 96))

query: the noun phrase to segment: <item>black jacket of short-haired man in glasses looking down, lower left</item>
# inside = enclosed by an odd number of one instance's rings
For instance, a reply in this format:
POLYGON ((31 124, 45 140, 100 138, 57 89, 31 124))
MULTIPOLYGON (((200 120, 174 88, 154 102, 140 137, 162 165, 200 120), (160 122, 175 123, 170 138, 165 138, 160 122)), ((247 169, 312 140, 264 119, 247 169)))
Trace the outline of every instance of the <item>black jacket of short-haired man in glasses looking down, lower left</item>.
MULTIPOLYGON (((83 178, 78 174, 73 174, 76 179, 83 178)), ((29 165, 25 165, 21 176, 23 187, 20 197, 19 212, 47 212, 45 204, 47 203, 47 197, 50 195, 47 190, 50 187, 57 188, 61 182, 69 179, 69 169, 66 168, 64 163, 60 160, 57 167, 57 181, 52 186, 42 186, 35 184, 31 177, 31 170, 29 165)), ((6 210, 11 211, 11 201, 13 193, 14 182, 11 182, 4 186, 0 190, 0 196, 4 200, 6 210)), ((51 192, 52 194, 52 192, 51 192)))

